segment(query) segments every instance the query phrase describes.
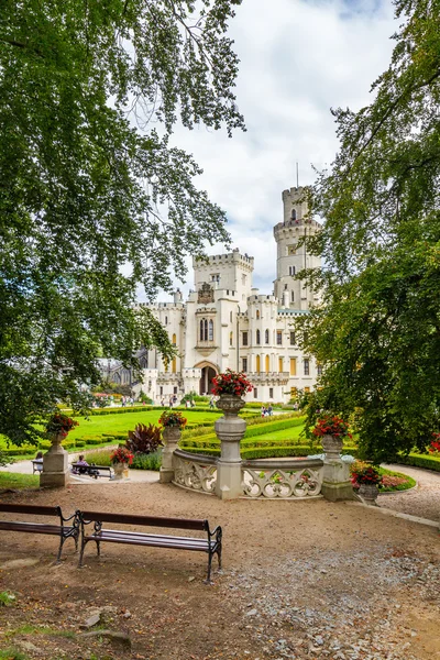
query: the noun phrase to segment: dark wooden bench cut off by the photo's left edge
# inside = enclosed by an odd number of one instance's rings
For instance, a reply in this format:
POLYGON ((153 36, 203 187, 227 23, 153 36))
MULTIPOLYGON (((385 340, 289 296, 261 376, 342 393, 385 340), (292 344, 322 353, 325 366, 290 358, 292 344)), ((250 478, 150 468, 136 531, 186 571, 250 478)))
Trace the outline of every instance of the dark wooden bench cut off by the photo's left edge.
POLYGON ((0 520, 0 531, 26 531, 29 534, 50 534, 59 537, 59 549, 56 558, 61 561, 63 546, 66 539, 75 540, 75 550, 78 550, 79 537, 79 516, 77 513, 69 518, 63 516, 59 506, 32 506, 28 504, 3 504, 0 502, 0 513, 2 514, 23 514, 30 517, 57 517, 58 525, 47 525, 45 522, 0 520), (72 520, 70 525, 65 525, 72 520))

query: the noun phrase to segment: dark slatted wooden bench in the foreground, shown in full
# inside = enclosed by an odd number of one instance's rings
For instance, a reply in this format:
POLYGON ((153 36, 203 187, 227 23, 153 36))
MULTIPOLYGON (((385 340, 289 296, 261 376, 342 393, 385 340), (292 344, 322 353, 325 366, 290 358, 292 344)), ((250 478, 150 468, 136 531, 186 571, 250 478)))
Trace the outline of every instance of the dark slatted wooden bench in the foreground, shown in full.
POLYGON ((100 556, 100 543, 127 543, 130 546, 151 546, 154 548, 167 548, 169 550, 193 550, 208 553, 208 578, 211 580, 212 557, 217 554, 219 569, 221 569, 221 527, 210 531, 208 520, 188 518, 160 518, 153 516, 131 516, 123 514, 105 514, 99 512, 78 512, 81 525, 81 551, 79 554, 79 566, 82 565, 84 551, 89 541, 97 544, 98 557, 100 556), (94 531, 88 532, 87 525, 94 522, 94 531), (204 531, 207 538, 177 537, 172 535, 144 534, 121 529, 103 529, 103 522, 116 522, 117 525, 132 525, 133 527, 157 527, 167 529, 191 529, 204 531))

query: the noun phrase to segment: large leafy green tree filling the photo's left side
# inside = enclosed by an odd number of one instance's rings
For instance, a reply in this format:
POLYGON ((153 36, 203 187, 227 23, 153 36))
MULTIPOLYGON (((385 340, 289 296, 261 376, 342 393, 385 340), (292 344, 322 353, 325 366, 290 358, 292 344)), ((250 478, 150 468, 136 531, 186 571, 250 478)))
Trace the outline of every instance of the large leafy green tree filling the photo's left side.
POLYGON ((101 353, 173 349, 153 299, 228 242, 177 121, 243 129, 227 37, 240 0, 6 0, 0 7, 0 432, 34 441, 84 405, 101 353))

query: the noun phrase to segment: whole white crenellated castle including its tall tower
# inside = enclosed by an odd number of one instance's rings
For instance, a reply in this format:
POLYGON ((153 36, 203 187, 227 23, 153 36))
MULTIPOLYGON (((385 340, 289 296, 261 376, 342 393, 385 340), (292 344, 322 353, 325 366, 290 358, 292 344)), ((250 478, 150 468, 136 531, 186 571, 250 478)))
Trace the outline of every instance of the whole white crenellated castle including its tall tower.
POLYGON ((109 363, 107 375, 121 383, 130 378, 135 393, 142 389, 156 404, 167 404, 174 395, 180 400, 191 392, 209 394, 212 378, 228 367, 248 374, 254 385, 248 400, 287 403, 297 389, 311 391, 319 365, 297 345, 293 320, 318 298, 294 276, 305 267, 320 267, 319 258, 298 246, 301 237, 315 234, 320 226, 306 218, 301 188, 283 193, 284 219, 274 227, 272 294, 253 288, 254 258, 238 249, 195 261, 195 290, 186 301, 177 290, 174 302, 148 305, 178 356, 166 364, 157 351, 141 352, 143 382, 132 383, 130 372, 117 364, 109 363))

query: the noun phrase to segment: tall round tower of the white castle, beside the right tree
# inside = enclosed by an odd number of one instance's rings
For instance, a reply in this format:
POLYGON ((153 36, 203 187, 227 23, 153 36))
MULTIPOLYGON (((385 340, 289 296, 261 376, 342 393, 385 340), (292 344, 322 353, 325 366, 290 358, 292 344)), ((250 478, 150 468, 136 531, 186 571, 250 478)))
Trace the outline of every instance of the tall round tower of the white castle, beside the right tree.
POLYGON ((274 294, 279 304, 290 309, 309 309, 317 300, 316 294, 304 282, 294 279, 304 268, 319 268, 321 260, 307 253, 305 245, 298 246, 302 237, 314 235, 319 222, 307 218, 306 188, 283 191, 284 220, 274 227, 277 244, 276 279, 274 294))

